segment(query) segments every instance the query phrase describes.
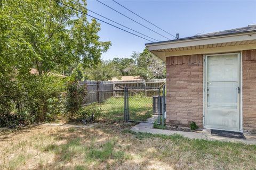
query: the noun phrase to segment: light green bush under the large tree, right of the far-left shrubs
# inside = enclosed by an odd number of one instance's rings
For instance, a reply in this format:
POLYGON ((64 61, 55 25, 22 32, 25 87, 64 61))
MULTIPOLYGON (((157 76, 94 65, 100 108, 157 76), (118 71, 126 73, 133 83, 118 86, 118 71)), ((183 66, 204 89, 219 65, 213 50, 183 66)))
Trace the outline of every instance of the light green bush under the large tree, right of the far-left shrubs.
POLYGON ((53 121, 61 113, 60 93, 65 90, 63 78, 30 75, 21 81, 23 105, 36 122, 53 121))

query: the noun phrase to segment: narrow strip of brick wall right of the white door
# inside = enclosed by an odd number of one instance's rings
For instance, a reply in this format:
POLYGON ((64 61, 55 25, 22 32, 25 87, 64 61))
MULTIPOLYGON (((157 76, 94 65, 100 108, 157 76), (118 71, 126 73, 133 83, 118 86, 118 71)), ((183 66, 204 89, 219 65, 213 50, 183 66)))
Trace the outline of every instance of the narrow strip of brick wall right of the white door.
POLYGON ((243 68, 243 130, 256 132, 256 49, 244 50, 243 68))

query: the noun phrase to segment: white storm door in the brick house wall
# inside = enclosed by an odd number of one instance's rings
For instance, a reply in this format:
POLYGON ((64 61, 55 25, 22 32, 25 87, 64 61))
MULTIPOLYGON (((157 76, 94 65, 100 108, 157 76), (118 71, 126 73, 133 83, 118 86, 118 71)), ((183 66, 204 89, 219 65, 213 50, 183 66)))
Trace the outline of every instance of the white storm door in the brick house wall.
POLYGON ((205 127, 239 130, 239 53, 205 59, 205 127))

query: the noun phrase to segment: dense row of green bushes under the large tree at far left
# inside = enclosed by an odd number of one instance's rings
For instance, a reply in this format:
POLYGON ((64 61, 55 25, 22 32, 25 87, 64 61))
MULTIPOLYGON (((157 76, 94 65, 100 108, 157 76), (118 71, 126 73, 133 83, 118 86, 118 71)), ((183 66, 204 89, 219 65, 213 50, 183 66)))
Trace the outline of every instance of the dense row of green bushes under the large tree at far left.
POLYGON ((0 126, 15 128, 54 121, 62 112, 63 78, 52 75, 0 74, 0 126))

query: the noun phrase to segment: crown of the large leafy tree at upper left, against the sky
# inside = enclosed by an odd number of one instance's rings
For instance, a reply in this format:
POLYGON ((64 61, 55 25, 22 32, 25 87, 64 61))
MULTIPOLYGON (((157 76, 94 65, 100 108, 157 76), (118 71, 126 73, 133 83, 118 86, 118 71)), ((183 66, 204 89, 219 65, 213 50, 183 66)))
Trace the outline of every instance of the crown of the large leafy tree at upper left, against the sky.
MULTIPOLYGON (((85 0, 75 2, 86 5, 85 0)), ((33 67, 41 75, 77 61, 94 65, 110 46, 99 41, 100 25, 94 19, 90 23, 85 14, 52 0, 2 1, 0 14, 1 60, 12 61, 22 73, 33 67)))

